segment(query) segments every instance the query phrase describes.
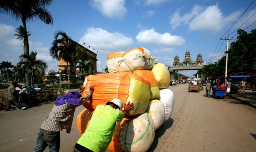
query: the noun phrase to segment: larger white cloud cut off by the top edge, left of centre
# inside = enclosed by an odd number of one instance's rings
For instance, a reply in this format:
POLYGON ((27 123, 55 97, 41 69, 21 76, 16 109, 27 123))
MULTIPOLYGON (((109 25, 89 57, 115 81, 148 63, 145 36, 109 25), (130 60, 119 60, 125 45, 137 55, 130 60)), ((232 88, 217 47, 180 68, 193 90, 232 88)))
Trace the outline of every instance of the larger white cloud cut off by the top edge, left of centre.
POLYGON ((109 18, 122 18, 127 9, 125 0, 93 0, 92 6, 109 18))

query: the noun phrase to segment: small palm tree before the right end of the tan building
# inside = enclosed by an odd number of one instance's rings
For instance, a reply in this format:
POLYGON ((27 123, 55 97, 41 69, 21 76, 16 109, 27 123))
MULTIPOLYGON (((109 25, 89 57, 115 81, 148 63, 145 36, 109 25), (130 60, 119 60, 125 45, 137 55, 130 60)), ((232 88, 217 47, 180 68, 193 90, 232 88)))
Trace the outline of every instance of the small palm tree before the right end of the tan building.
POLYGON ((92 74, 91 60, 79 60, 76 68, 79 68, 80 74, 83 75, 84 79, 86 76, 92 74))

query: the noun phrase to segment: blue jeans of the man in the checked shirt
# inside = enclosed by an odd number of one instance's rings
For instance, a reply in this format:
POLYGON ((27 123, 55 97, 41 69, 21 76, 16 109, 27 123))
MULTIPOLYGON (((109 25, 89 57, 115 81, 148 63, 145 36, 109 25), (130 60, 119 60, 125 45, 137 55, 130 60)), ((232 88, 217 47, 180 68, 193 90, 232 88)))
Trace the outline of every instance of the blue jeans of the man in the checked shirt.
POLYGON ((33 152, 43 152, 47 145, 50 152, 58 152, 60 150, 60 141, 60 132, 52 132, 40 128, 33 152))

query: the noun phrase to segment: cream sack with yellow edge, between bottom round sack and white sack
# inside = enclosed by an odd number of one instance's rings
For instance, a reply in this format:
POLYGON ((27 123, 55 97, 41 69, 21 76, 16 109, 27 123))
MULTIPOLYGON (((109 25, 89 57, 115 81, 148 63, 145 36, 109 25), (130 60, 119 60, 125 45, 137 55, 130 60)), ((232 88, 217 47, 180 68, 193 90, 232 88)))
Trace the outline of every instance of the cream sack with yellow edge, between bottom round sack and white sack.
POLYGON ((158 129, 165 121, 165 106, 157 99, 150 100, 146 111, 155 124, 155 130, 158 129))

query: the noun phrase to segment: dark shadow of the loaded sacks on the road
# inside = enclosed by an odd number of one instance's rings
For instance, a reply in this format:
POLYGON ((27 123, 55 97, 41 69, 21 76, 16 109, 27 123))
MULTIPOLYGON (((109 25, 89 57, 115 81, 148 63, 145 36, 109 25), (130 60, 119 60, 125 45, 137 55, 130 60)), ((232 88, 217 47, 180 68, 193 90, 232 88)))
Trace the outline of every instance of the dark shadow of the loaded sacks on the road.
POLYGON ((155 139, 147 152, 152 152, 155 150, 158 144, 158 139, 165 133, 166 129, 172 126, 173 123, 174 120, 172 118, 169 118, 155 131, 155 139))

